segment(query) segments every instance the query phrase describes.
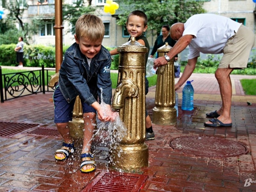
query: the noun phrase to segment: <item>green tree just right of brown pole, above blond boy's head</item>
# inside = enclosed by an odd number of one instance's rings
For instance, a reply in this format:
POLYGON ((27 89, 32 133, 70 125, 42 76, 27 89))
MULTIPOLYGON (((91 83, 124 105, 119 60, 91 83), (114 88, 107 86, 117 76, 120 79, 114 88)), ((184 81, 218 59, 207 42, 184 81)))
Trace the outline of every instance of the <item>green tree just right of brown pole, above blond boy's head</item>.
POLYGON ((70 31, 72 33, 75 33, 75 25, 76 25, 76 20, 83 14, 85 13, 91 13, 93 14, 94 11, 96 10, 95 7, 92 7, 92 0, 87 0, 87 3, 83 0, 77 0, 73 4, 64 4, 63 5, 63 20, 69 21, 71 24, 72 28, 68 30, 67 32, 69 33, 70 31))

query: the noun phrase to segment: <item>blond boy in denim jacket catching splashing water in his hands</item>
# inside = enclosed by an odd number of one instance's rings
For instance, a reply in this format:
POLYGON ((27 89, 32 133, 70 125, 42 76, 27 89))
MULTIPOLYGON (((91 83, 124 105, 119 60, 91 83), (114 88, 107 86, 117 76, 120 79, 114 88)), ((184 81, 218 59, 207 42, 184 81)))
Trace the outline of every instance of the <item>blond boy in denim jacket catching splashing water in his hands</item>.
POLYGON ((96 113, 101 121, 110 121, 112 87, 110 79, 111 57, 108 50, 101 45, 105 27, 102 20, 92 14, 85 14, 76 21, 76 43, 65 52, 59 72, 59 82, 53 94, 54 123, 64 142, 56 150, 55 159, 65 160, 74 151, 74 140, 67 127, 72 120, 72 111, 76 96, 79 95, 83 108, 84 142, 80 166, 81 172, 92 172, 96 168, 94 155, 90 153, 93 130, 96 125, 96 113), (104 116, 100 104, 107 104, 108 115, 104 116))

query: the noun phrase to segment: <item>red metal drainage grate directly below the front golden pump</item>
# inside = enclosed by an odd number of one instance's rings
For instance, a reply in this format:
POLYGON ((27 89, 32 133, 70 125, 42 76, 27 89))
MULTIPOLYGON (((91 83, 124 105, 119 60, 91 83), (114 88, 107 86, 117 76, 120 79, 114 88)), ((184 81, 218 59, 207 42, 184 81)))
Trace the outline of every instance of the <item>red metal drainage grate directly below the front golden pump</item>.
POLYGON ((101 172, 81 192, 137 192, 147 179, 147 175, 101 172))

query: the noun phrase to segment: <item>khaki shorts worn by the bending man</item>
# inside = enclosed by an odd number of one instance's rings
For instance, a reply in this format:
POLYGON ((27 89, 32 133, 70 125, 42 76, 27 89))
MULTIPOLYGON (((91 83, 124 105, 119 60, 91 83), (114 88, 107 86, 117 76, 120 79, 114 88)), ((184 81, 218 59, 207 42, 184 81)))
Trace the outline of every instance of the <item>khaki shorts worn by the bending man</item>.
POLYGON ((254 38, 252 30, 241 25, 237 33, 228 39, 218 68, 246 68, 254 38))

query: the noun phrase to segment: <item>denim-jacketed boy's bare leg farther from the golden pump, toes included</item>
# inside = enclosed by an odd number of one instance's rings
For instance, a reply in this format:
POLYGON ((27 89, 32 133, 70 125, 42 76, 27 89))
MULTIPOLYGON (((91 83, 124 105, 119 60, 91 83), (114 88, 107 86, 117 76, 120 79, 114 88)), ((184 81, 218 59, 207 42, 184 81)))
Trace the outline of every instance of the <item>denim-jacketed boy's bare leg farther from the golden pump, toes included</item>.
MULTIPOLYGON (((73 139, 70 136, 70 130, 68 128, 68 123, 56 123, 56 126, 64 142, 73 143, 73 139)), ((68 149, 67 147, 62 147, 62 148, 68 149)), ((62 153, 57 153, 56 156, 60 158, 64 158, 64 155, 62 153)))

